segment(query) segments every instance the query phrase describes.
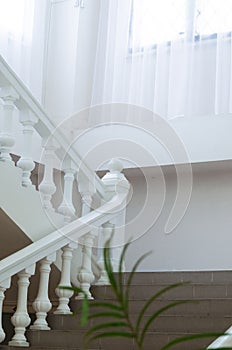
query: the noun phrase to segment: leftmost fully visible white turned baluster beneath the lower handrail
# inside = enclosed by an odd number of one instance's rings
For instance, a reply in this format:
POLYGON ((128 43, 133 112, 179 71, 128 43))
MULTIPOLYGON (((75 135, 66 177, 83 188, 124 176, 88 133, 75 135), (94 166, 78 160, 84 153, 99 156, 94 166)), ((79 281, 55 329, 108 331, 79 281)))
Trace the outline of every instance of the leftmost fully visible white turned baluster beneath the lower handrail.
POLYGON ((25 337, 26 327, 29 326, 31 319, 27 312, 27 293, 29 287, 29 278, 35 273, 35 265, 24 269, 18 273, 18 299, 17 309, 11 317, 11 322, 14 325, 15 334, 12 340, 8 343, 10 346, 27 347, 29 343, 25 337))

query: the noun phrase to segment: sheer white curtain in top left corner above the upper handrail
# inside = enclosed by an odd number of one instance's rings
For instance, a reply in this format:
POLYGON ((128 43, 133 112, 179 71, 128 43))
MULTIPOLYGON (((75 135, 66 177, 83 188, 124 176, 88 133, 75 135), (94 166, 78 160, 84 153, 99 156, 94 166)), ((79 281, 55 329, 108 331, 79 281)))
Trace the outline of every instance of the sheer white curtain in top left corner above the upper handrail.
POLYGON ((42 95, 47 0, 0 0, 0 54, 38 99, 42 95))

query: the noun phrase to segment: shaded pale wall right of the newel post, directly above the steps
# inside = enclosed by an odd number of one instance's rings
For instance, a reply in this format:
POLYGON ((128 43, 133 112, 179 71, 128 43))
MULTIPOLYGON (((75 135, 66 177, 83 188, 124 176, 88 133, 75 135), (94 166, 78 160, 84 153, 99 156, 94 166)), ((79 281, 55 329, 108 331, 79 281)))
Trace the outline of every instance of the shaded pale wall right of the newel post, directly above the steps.
MULTIPOLYGON (((149 217, 158 213, 162 199, 159 190, 160 176, 154 168, 150 176, 150 191, 153 201, 143 212, 146 198, 145 178, 131 170, 128 178, 133 185, 134 194, 127 210, 127 221, 142 212, 127 228, 127 237, 140 231, 140 238, 131 245, 126 267, 131 269, 135 260, 143 253, 152 250, 152 255, 141 265, 140 271, 166 270, 220 270, 231 269, 232 243, 232 162, 195 164, 193 166, 192 196, 182 221, 176 229, 165 234, 164 227, 173 205, 176 193, 176 176, 173 167, 165 167, 167 192, 161 214, 152 227, 143 232, 149 217), (152 184, 153 183, 153 184, 152 184)), ((161 203, 162 204, 162 203, 161 203)))

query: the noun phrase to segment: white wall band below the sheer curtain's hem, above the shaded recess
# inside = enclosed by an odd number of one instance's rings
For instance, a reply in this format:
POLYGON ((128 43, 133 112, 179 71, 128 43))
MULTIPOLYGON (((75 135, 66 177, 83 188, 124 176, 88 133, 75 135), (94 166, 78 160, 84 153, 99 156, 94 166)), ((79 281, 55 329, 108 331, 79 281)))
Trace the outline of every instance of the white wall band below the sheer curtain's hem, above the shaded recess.
POLYGON ((125 167, 232 159, 229 114, 165 121, 142 107, 109 104, 81 111, 75 119, 70 119, 70 142, 92 169, 112 157, 125 159, 125 167), (145 121, 151 116, 154 121, 145 121), (89 129, 80 133, 78 120, 89 122, 89 129))

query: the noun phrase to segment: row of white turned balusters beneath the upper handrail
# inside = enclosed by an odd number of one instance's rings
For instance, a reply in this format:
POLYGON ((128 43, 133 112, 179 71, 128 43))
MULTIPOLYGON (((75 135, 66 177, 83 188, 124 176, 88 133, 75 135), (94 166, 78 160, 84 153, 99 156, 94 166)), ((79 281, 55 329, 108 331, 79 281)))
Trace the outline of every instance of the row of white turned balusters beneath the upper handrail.
MULTIPOLYGON (((15 137, 12 132, 14 111, 16 109, 15 103, 19 99, 19 95, 12 87, 5 87, 0 90, 0 107, 1 107, 1 133, 0 133, 0 161, 14 164, 11 158, 11 150, 15 144, 15 137)), ((35 167, 35 162, 32 159, 32 143, 33 133, 35 131, 35 124, 38 122, 38 118, 32 113, 29 108, 22 109, 19 113, 19 122, 22 124, 23 133, 23 154, 17 162, 17 166, 22 169, 22 185, 27 187, 32 184, 31 172, 35 167)), ((55 151, 59 145, 50 138, 43 139, 42 147, 44 175, 43 180, 39 185, 39 191, 43 197, 43 205, 45 209, 53 209, 51 198, 56 192, 56 186, 53 179, 53 167, 56 159, 55 151)), ((64 193, 63 201, 58 208, 58 212, 63 214, 65 221, 70 219, 75 214, 75 208, 72 203, 72 186, 74 181, 74 174, 77 171, 74 163, 68 157, 65 157, 63 163, 64 169, 64 193)), ((85 194, 86 195, 86 194, 85 194)))

